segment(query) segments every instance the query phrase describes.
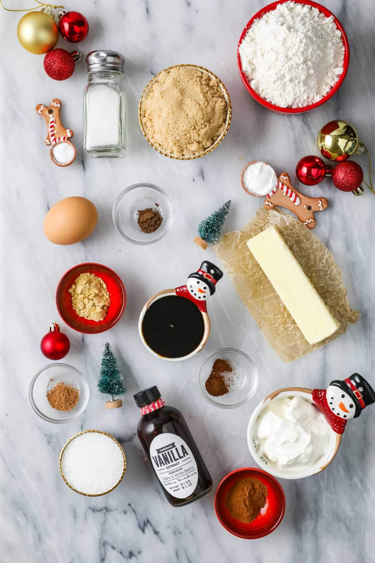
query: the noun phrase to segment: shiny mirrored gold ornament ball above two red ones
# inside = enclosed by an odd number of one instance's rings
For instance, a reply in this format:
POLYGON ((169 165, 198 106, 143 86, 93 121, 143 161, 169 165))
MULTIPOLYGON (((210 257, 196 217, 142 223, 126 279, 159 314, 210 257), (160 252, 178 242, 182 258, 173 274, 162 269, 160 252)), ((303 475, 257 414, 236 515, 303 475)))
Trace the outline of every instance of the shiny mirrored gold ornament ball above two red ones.
POLYGON ((358 140, 353 125, 343 119, 326 123, 318 134, 318 147, 324 158, 340 162, 352 154, 362 153, 362 142, 358 140))

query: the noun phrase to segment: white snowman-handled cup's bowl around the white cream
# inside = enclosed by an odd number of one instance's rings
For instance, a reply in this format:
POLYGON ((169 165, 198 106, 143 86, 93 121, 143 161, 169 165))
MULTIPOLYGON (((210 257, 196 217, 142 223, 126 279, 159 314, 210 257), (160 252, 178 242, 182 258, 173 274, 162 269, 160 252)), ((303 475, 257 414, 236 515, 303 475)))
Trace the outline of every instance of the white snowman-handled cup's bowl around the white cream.
MULTIPOLYGON (((332 462, 337 453, 338 447, 341 443, 341 434, 336 434, 336 432, 333 431, 331 426, 328 424, 327 432, 324 436, 324 446, 322 446, 322 455, 320 455, 320 457, 310 466, 280 469, 276 463, 270 461, 270 459, 261 451, 258 425, 265 410, 269 409, 270 406, 274 409, 275 403, 279 400, 283 400, 285 398, 292 399, 293 397, 301 397, 312 405, 314 403, 311 395, 312 391, 312 389, 306 387, 287 387, 279 389, 266 396, 265 399, 257 405, 251 415, 249 426, 247 427, 247 445, 249 445, 250 453, 255 462, 274 477, 282 479, 302 479, 302 477, 315 475, 315 473, 323 471, 323 469, 332 462)), ((318 416, 324 419, 322 414, 319 413, 318 416)))

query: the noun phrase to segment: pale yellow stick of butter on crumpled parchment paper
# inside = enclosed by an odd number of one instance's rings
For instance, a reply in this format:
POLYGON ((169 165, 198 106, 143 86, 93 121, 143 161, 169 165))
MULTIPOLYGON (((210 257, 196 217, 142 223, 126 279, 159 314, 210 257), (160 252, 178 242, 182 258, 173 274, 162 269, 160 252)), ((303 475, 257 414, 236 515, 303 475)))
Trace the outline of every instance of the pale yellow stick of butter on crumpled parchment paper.
POLYGON ((340 326, 275 227, 247 241, 265 275, 310 345, 340 326))

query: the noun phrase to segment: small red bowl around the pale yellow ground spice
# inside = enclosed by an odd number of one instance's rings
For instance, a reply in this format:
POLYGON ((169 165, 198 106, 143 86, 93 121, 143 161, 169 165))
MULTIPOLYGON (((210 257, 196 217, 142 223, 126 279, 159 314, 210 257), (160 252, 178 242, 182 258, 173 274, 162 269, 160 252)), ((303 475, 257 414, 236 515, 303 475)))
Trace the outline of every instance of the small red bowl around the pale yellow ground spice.
POLYGON ((62 276, 56 289, 56 307, 62 320, 74 330, 85 334, 98 334, 112 328, 121 318, 126 306, 126 292, 119 276, 107 266, 95 262, 85 262, 74 266, 62 276), (84 319, 76 314, 71 304, 68 289, 80 274, 89 272, 101 278, 110 294, 111 305, 101 321, 84 319))

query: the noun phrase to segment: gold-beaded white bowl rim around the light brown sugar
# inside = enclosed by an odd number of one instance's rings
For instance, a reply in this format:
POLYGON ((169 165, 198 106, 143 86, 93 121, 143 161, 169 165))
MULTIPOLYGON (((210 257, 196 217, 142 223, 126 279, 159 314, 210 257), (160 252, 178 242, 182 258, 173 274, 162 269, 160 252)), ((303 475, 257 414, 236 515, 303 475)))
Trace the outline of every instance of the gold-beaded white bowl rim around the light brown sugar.
POLYGON ((142 129, 143 136, 146 138, 148 144, 150 144, 152 146, 152 148, 155 149, 158 153, 162 154, 164 157, 174 158, 176 160, 195 160, 196 158, 204 157, 205 154, 208 154, 211 151, 213 151, 214 149, 216 149, 216 147, 219 146, 220 143, 222 142, 225 135, 227 135, 229 125, 231 124, 231 119, 232 119, 232 104, 231 104, 231 99, 229 97, 229 93, 228 93, 227 88, 225 88, 225 86, 224 86, 223 82, 220 80, 220 78, 217 77, 216 74, 211 72, 211 70, 204 68, 204 66, 193 65, 193 64, 173 65, 173 66, 169 66, 168 68, 161 70, 159 73, 157 73, 153 78, 151 78, 150 82, 148 82, 146 84, 146 86, 144 87, 144 90, 143 90, 142 95, 141 95, 141 100, 139 100, 139 105, 138 105, 138 119, 139 119, 139 125, 141 126, 141 129, 142 129), (187 157, 180 157, 180 156, 170 154, 170 153, 166 153, 165 151, 163 151, 160 148, 160 146, 157 146, 157 144, 155 144, 152 141, 152 139, 150 138, 150 136, 148 135, 148 133, 146 131, 146 128, 144 127, 143 120, 142 120, 143 100, 145 99, 147 93, 152 88, 153 84, 155 84, 155 82, 158 81, 160 74, 162 72, 168 72, 171 69, 180 68, 182 66, 191 66, 192 68, 195 68, 195 69, 201 70, 202 72, 207 73, 211 78, 216 79, 219 83, 220 89, 222 90, 222 92, 224 94, 225 101, 227 102, 227 118, 225 119, 225 127, 224 127, 224 130, 222 131, 222 133, 220 133, 219 137, 216 138, 216 140, 213 142, 213 144, 211 144, 207 149, 202 151, 202 153, 195 154, 195 155, 192 155, 192 156, 187 156, 187 157))

